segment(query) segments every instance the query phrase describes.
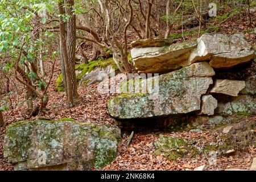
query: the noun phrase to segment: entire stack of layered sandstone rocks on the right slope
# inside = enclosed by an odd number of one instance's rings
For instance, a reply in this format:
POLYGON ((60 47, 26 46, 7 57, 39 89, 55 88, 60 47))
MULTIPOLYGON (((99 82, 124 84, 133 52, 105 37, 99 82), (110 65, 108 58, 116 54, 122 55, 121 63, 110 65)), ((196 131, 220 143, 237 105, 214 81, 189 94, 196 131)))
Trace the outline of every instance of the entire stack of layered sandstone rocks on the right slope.
POLYGON ((166 39, 146 39, 137 40, 132 46, 131 56, 138 73, 159 73, 159 76, 123 83, 121 90, 125 94, 108 102, 112 117, 152 118, 193 112, 214 115, 255 110, 255 76, 243 81, 213 78, 220 69, 253 61, 256 52, 242 34, 205 34, 197 42, 175 44, 166 39), (140 90, 144 84, 155 86, 150 92, 127 91, 127 85, 136 83, 140 90), (218 95, 230 97, 225 101, 214 98, 218 95))

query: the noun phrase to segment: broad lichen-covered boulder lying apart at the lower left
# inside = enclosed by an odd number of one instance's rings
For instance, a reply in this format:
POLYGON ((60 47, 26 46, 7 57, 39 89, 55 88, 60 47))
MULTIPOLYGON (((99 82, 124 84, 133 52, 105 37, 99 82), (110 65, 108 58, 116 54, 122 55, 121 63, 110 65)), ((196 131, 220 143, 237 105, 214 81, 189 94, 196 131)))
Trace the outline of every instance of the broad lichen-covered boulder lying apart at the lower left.
POLYGON ((75 121, 20 121, 7 127, 4 156, 15 170, 90 170, 111 163, 118 129, 75 121))

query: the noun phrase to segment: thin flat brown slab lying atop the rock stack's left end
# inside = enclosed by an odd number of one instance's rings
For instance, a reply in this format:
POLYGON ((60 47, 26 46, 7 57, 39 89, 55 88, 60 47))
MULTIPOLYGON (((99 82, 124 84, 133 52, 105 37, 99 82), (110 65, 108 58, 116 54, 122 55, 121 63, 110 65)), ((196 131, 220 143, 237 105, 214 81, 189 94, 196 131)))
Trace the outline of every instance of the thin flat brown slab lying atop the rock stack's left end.
POLYGON ((162 46, 170 46, 172 44, 172 40, 170 39, 139 39, 135 40, 131 43, 131 47, 133 48, 142 48, 142 47, 162 47, 162 46))

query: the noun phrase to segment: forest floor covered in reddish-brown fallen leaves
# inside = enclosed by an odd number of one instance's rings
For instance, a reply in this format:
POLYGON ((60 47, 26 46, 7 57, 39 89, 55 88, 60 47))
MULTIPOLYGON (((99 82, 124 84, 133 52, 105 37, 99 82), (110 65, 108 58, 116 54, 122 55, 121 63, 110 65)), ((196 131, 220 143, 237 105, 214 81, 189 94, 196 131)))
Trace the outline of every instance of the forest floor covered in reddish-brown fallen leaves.
MULTIPOLYGON (((254 15, 256 15, 254 13, 254 15)), ((256 17, 256 16, 254 16, 256 17)), ((255 22, 256 24, 256 22, 255 22)), ((240 18, 240 15, 233 16, 225 20, 221 26, 218 27, 218 33, 222 34, 234 34, 237 32, 243 32, 247 40, 251 44, 256 44, 256 37, 252 30, 255 28, 249 25, 247 19, 240 18)), ((187 29, 186 31, 197 30, 198 27, 187 29)), ((205 28, 206 29, 206 28, 205 28)), ((173 31, 172 33, 180 34, 181 30, 173 31)), ((181 36, 176 42, 183 40, 190 40, 196 38, 196 34, 181 36)), ((49 68, 51 69, 49 64, 49 68)), ((49 71, 50 72, 50 71, 49 71)), ((69 109, 66 104, 66 97, 64 92, 55 92, 55 81, 60 73, 59 61, 56 64, 55 71, 53 73, 53 81, 49 85, 48 95, 49 103, 47 106, 47 113, 45 115, 38 115, 32 117, 30 111, 26 109, 26 103, 20 102, 24 100, 23 89, 18 90, 18 96, 16 94, 10 95, 10 100, 13 103, 13 108, 3 112, 3 118, 5 120, 5 126, 0 128, 0 171, 1 170, 13 170, 13 166, 7 162, 7 159, 3 157, 3 138, 6 130, 6 126, 10 123, 20 120, 33 120, 38 117, 49 118, 57 120, 61 118, 73 118, 80 122, 93 122, 99 125, 109 125, 117 127, 117 123, 110 117, 107 108, 107 101, 114 97, 115 94, 100 94, 97 92, 98 84, 86 86, 85 88, 79 88, 79 94, 81 102, 75 107, 69 109), (19 105, 17 104, 19 103, 19 105)), ((116 82, 120 82, 121 76, 117 75, 113 78, 116 82)), ((18 85, 18 88, 22 86, 18 85)), ((34 101, 36 104, 37 100, 34 101)), ((10 105, 11 107, 11 105, 10 105)), ((256 116, 245 117, 236 123, 233 123, 233 127, 240 127, 245 123, 256 123, 256 116)), ((255 126, 255 125, 254 125, 255 126)), ((242 130, 241 130, 242 131, 242 130)), ((255 132, 255 130, 254 130, 255 132)), ((200 154, 195 158, 189 158, 184 156, 176 161, 168 160, 164 155, 155 155, 154 142, 159 138, 159 135, 169 135, 174 137, 183 138, 184 140, 197 140, 198 146, 204 146, 209 142, 217 142, 217 139, 222 135, 222 127, 219 130, 203 130, 200 133, 189 132, 189 130, 181 130, 176 132, 155 132, 151 129, 142 128, 141 131, 137 131, 129 146, 126 145, 127 138, 130 133, 123 134, 121 143, 118 147, 118 156, 112 164, 104 167, 105 170, 190 170, 203 164, 208 164, 208 156, 200 154)), ((237 151, 233 155, 218 156, 217 164, 210 166, 212 170, 223 170, 227 168, 241 168, 249 169, 253 158, 256 157, 255 146, 250 146, 246 150, 237 151)))

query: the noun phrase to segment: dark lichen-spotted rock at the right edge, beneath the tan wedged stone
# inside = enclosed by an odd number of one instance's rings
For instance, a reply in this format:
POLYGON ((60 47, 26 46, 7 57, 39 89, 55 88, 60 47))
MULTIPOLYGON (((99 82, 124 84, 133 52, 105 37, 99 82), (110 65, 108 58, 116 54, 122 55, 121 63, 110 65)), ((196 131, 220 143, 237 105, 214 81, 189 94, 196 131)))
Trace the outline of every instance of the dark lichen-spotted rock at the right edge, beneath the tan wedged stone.
POLYGON ((246 113, 256 114, 256 96, 239 95, 228 102, 218 102, 217 112, 220 114, 246 113))

